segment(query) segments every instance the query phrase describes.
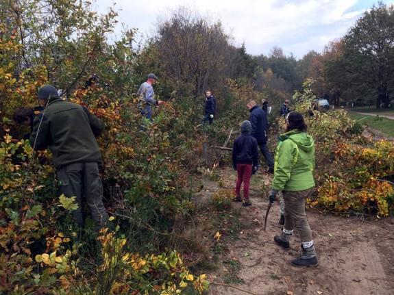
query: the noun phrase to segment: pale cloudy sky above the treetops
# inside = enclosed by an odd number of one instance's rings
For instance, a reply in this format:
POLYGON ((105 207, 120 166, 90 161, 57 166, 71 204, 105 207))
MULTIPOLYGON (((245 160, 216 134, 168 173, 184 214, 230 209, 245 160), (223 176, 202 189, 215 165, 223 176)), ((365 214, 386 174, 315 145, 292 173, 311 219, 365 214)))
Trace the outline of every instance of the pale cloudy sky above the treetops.
MULTIPOLYGON (((393 4, 394 0, 382 1, 393 4)), ((96 0, 93 7, 106 12, 111 0, 96 0)), ((235 45, 245 42, 247 52, 269 54, 282 47, 287 55, 301 58, 310 50, 341 38, 373 0, 117 0, 120 23, 138 28, 140 36, 152 36, 159 17, 180 5, 197 10, 212 21, 221 21, 235 45)), ((116 27, 121 31, 121 25, 116 27)))

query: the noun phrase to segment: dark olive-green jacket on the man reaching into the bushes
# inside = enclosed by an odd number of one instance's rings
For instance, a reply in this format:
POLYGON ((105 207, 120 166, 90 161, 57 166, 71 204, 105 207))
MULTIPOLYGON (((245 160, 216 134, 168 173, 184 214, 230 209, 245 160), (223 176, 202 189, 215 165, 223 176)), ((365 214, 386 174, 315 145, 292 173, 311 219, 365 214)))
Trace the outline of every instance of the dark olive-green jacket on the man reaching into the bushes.
POLYGON ((86 107, 51 97, 41 116, 34 118, 30 143, 36 150, 51 149, 56 168, 81 162, 101 162, 96 136, 103 122, 86 107))

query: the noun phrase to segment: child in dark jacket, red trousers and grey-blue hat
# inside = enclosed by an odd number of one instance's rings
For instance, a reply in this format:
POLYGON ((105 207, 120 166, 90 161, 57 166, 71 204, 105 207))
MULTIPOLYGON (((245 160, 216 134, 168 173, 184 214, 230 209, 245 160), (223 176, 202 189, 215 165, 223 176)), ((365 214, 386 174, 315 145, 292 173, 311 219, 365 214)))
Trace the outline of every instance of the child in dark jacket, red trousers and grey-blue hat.
POLYGON ((234 201, 241 202, 241 185, 243 183, 243 206, 250 206, 249 183, 252 174, 258 170, 258 149, 256 138, 251 136, 251 123, 243 121, 241 136, 234 141, 232 147, 232 166, 238 173, 234 201))

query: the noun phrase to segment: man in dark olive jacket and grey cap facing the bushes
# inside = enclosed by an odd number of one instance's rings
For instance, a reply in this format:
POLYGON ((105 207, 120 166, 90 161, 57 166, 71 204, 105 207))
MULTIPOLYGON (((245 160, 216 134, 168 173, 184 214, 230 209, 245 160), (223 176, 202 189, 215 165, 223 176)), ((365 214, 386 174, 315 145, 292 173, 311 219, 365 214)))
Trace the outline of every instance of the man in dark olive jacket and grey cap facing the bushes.
POLYGON ((78 209, 73 211, 75 222, 83 227, 82 195, 90 209, 97 229, 108 222, 103 205, 103 188, 99 177, 101 153, 96 136, 104 125, 86 107, 63 101, 51 85, 38 90, 38 99, 46 102, 42 116, 34 118, 30 144, 34 150, 49 147, 57 169, 60 192, 75 196, 78 209))

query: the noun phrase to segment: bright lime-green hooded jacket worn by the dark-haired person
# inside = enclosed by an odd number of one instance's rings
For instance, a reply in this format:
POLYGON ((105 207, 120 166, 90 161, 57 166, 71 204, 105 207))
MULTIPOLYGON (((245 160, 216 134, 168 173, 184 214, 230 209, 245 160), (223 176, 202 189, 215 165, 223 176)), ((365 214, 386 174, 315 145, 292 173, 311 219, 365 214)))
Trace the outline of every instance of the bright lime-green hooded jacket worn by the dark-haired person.
POLYGON ((292 130, 279 137, 271 188, 297 192, 315 186, 315 142, 306 132, 292 130))

